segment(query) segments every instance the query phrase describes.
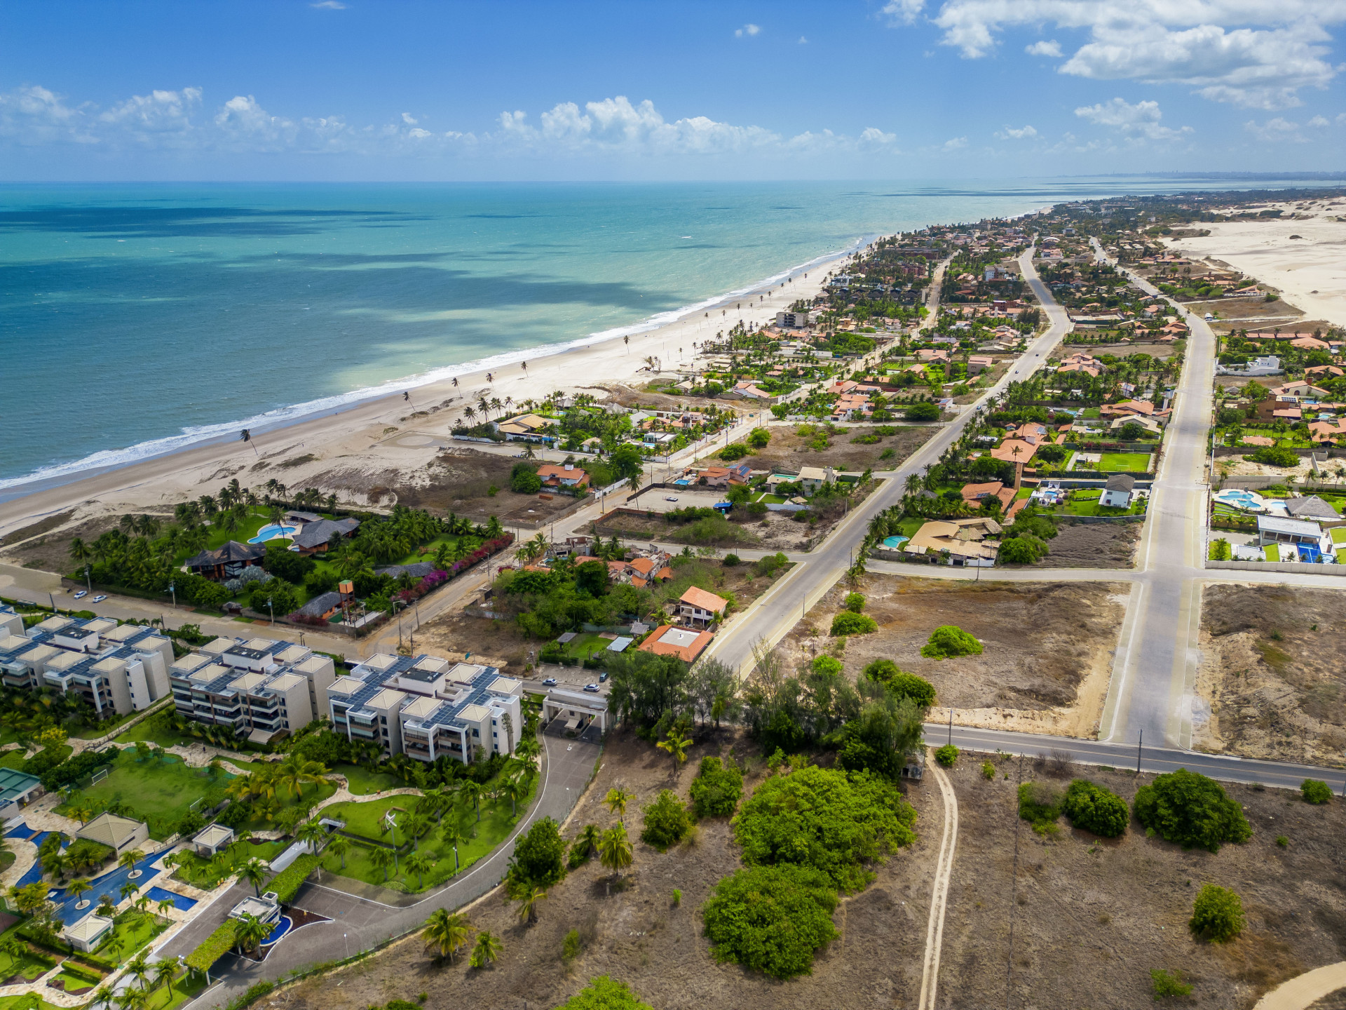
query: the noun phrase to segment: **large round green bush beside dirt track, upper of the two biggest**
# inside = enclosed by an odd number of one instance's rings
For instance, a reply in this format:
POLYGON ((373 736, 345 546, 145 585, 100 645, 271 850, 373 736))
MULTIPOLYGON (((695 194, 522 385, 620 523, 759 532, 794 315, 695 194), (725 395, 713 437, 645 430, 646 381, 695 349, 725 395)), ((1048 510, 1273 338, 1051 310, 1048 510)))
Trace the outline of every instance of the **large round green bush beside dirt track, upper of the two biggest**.
POLYGON ((890 781, 810 765, 759 785, 734 836, 750 866, 798 863, 859 891, 872 878, 865 865, 915 842, 914 826, 915 809, 890 781))

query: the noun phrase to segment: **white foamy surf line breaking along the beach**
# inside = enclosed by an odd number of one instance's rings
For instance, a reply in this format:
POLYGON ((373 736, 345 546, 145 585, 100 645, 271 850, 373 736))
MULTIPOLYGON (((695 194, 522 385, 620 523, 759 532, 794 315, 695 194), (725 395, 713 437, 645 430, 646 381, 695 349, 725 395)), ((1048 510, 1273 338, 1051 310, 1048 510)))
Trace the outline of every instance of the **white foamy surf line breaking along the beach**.
MULTIPOLYGON (((598 330, 595 333, 587 334, 573 341, 561 341, 556 343, 540 343, 532 347, 522 347, 517 350, 503 351, 501 354, 491 354, 485 358, 474 358, 472 361, 463 361, 456 365, 444 365, 441 368, 431 369, 415 376, 406 376, 404 378, 394 378, 386 382, 380 382, 373 386, 363 386, 361 389, 353 389, 347 393, 341 393, 336 396, 326 396, 318 400, 308 400, 306 403, 292 404, 289 407, 277 407, 264 413, 254 413, 250 417, 244 417, 241 420, 219 422, 218 424, 201 424, 192 427, 182 428, 176 435, 168 435, 159 439, 148 439, 145 442, 137 442, 133 446, 125 448, 104 448, 82 459, 74 459, 67 463, 52 463, 51 466, 44 466, 39 470, 34 470, 30 474, 22 477, 0 478, 0 490, 7 490, 11 487, 20 487, 26 483, 36 482, 61 482, 62 478, 77 478, 92 470, 112 470, 122 466, 131 466, 132 463, 140 463, 145 459, 153 459, 156 457, 167 455, 170 452, 178 452, 184 448, 191 448, 192 446, 205 444, 207 442, 225 440, 227 438, 238 438, 244 428, 248 428, 253 435, 264 435, 269 431, 276 431, 277 428, 288 427, 302 420, 307 420, 323 413, 338 413, 342 409, 354 407, 355 404, 363 403, 366 400, 376 400, 381 396, 394 396, 404 391, 412 391, 419 386, 431 385, 433 382, 443 382, 446 380, 454 378, 456 376, 470 374, 472 372, 493 370, 502 368, 505 365, 514 365, 521 361, 532 361, 540 357, 551 357, 553 354, 564 354, 579 347, 588 347, 594 343, 602 343, 603 341, 616 339, 619 337, 635 337, 641 333, 649 333, 650 330, 657 330, 661 326, 676 322, 684 315, 690 312, 701 312, 708 308, 723 304, 724 302, 731 302, 736 298, 743 298, 744 295, 760 291, 762 288, 773 287, 789 277, 793 277, 805 271, 813 269, 824 263, 837 260, 843 256, 849 256, 851 253, 861 249, 863 246, 872 242, 878 236, 863 236, 856 238, 853 242, 848 244, 843 249, 836 249, 833 252, 826 252, 820 256, 814 256, 805 263, 787 267, 783 271, 763 277, 759 281, 747 284, 740 288, 734 288, 720 295, 703 299, 693 304, 682 306, 681 308, 672 308, 666 312, 657 312, 646 319, 629 326, 616 326, 610 330, 598 330)), ((13 496, 5 496, 13 497, 13 496)))

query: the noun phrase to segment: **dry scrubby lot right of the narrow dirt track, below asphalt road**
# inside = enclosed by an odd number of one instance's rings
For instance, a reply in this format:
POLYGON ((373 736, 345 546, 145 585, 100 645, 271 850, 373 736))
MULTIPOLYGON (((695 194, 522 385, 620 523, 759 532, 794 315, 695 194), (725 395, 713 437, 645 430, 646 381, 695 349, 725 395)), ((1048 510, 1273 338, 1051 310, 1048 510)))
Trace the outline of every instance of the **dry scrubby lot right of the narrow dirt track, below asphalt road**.
MULTIPOLYGON (((1044 770, 1031 760, 1020 772, 1018 760, 992 758, 996 777, 987 781, 984 758, 968 757, 950 773, 960 823, 941 1007, 1136 1010, 1158 1006, 1149 971, 1164 968, 1194 986, 1189 999, 1168 1001, 1175 1006, 1248 1010, 1281 980, 1346 957, 1346 804, 1311 807, 1298 793, 1226 785, 1254 835, 1217 854, 1147 839, 1135 820, 1117 840, 1065 819, 1058 835, 1042 838, 1016 816, 1015 786, 1020 773, 1027 781, 1044 770), (1248 925, 1230 944, 1197 941, 1187 929, 1205 883, 1242 898, 1248 925)), ((1128 803, 1151 778, 1079 765, 1071 774, 1128 803)))

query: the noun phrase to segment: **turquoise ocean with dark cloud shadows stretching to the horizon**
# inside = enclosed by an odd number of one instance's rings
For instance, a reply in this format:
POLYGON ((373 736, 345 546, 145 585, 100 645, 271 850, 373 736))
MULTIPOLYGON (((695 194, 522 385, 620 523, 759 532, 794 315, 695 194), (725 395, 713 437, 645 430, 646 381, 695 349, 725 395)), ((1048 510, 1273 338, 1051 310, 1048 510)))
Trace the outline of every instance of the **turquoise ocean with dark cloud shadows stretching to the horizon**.
POLYGON ((1232 187, 0 186, 0 489, 634 333, 879 234, 1232 187))

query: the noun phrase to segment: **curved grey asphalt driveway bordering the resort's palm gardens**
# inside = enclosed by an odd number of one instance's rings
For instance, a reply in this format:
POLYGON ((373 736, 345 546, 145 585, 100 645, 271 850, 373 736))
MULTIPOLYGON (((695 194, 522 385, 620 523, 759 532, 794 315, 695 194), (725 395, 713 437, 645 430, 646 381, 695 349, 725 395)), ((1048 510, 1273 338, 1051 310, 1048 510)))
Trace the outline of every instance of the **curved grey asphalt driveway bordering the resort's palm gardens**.
MULTIPOLYGON (((310 881, 295 898, 295 905, 327 916, 331 921, 315 922, 295 931, 272 948, 271 956, 265 962, 254 963, 242 957, 221 960, 217 964, 217 970, 222 972, 221 980, 198 997, 191 1006, 197 1009, 223 1006, 254 982, 277 979, 296 968, 339 960, 350 953, 374 947, 390 936, 400 936, 415 929, 436 908, 460 908, 491 890, 505 875, 514 854, 514 839, 526 832, 540 817, 564 821, 584 790, 590 773, 594 770, 594 762, 598 760, 599 747, 595 743, 551 735, 545 737, 544 741, 546 757, 541 770, 542 786, 537 801, 514 828, 514 834, 491 855, 478 862, 462 877, 431 891, 419 902, 401 908, 347 894, 320 881, 310 881)), ((330 877, 328 881, 331 881, 330 877)), ((250 890, 248 883, 236 885, 198 916, 187 929, 155 951, 155 955, 186 956, 190 953, 225 920, 229 909, 250 890)))

